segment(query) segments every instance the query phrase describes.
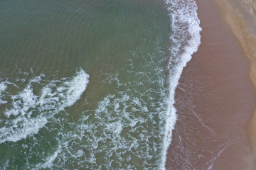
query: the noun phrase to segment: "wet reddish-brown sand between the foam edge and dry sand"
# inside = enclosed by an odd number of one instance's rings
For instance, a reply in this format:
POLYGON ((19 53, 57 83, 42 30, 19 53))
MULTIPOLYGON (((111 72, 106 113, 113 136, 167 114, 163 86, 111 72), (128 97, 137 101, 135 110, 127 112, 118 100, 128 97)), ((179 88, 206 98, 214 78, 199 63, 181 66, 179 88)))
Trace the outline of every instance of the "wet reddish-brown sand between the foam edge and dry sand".
POLYGON ((178 120, 166 169, 254 169, 245 132, 255 110, 249 65, 213 1, 196 3, 201 46, 176 89, 178 120))

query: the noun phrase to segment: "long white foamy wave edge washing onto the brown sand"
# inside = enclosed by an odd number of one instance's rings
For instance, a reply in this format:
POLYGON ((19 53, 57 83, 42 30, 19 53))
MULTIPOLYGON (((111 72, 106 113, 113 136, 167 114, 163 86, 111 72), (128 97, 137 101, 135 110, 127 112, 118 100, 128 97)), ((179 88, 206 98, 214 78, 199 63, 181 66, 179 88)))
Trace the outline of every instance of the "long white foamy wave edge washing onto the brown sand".
POLYGON ((196 10, 197 5, 193 0, 165 0, 171 17, 171 28, 174 31, 170 36, 171 47, 169 48, 170 60, 168 64, 169 96, 167 98, 166 125, 164 135, 164 149, 162 154, 161 169, 165 169, 166 155, 171 145, 172 130, 176 123, 177 115, 174 108, 174 94, 178 79, 181 77, 183 67, 191 60, 194 52, 201 44, 200 32, 196 10), (175 65, 175 66, 174 66, 175 65))

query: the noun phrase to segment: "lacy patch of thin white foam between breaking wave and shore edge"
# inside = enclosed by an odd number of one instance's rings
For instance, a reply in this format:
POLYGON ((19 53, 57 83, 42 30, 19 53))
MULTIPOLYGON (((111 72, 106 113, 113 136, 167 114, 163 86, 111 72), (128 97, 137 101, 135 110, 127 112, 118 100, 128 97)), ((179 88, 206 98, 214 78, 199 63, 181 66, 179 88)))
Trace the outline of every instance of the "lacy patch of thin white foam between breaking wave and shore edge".
MULTIPOLYGON (((157 145, 157 142, 151 141, 154 138, 152 134, 158 139, 159 133, 144 129, 147 127, 146 123, 151 124, 151 120, 142 117, 142 115, 149 114, 144 111, 142 103, 142 101, 138 102, 137 97, 129 96, 124 92, 102 98, 96 110, 92 111, 92 115, 84 113, 87 116, 72 125, 72 130, 60 132, 61 137, 58 138, 61 139, 60 144, 63 151, 60 157, 55 159, 55 162, 58 163, 54 166, 60 167, 65 164, 65 161, 75 158, 79 162, 83 162, 87 169, 100 169, 100 165, 96 162, 97 159, 100 159, 97 158, 97 155, 104 156, 107 160, 104 164, 106 169, 112 169, 111 162, 114 162, 112 157, 117 157, 116 162, 124 169, 135 168, 135 165, 127 164, 127 160, 134 156, 142 164, 143 162, 144 164, 150 164, 151 162, 147 161, 153 159, 152 154, 155 154, 159 149, 156 148, 155 151, 151 151, 151 145, 157 145), (117 103, 119 103, 119 106, 117 106, 117 103), (140 113, 134 114, 127 108, 137 108, 140 113), (135 115, 137 117, 134 117, 135 115), (151 145, 148 144, 149 140, 152 142, 151 145), (151 151, 151 153, 144 152, 145 149, 151 151), (84 151, 86 151, 86 154, 84 151), (127 155, 127 158, 124 154, 127 155)), ((85 112, 90 113, 91 111, 85 112)))

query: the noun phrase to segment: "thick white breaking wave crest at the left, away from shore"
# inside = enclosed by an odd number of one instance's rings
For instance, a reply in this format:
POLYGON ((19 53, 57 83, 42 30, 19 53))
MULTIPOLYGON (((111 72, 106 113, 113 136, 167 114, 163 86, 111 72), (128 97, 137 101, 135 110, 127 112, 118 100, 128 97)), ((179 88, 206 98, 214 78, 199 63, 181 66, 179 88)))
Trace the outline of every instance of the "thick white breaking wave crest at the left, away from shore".
MULTIPOLYGON (((4 126, 0 128, 0 143, 16 142, 28 135, 38 133, 48 123, 49 118, 64 108, 73 106, 89 82, 89 75, 80 69, 74 77, 64 81, 63 84, 56 84, 61 82, 60 80, 50 81, 41 89, 39 95, 34 94, 33 91, 42 81, 43 76, 42 74, 34 77, 19 94, 10 96, 12 103, 11 107, 4 112, 6 118, 3 120, 4 126)), ((1 89, 6 89, 6 86, 0 84, 1 89)))

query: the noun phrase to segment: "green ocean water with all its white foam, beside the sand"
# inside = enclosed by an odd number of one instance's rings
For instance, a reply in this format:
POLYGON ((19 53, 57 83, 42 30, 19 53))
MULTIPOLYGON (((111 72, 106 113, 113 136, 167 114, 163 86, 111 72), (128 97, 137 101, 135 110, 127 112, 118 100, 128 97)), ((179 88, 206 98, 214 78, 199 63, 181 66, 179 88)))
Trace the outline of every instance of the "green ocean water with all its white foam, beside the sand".
POLYGON ((0 169, 165 169, 196 8, 0 1, 0 169))

